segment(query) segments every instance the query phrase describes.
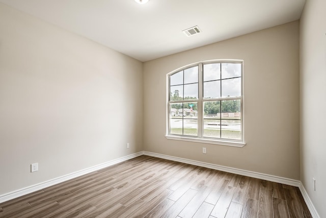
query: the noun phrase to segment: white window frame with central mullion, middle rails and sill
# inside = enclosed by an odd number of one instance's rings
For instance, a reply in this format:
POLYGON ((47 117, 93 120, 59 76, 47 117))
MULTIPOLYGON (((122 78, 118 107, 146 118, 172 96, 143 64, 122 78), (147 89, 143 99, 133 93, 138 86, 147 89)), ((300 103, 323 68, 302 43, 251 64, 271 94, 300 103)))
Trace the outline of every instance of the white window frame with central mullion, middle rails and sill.
MULTIPOLYGON (((222 79, 222 78, 221 78, 222 79)), ((200 143, 210 143, 210 144, 219 144, 222 146, 233 146, 233 147, 244 147, 246 143, 244 142, 244 130, 243 130, 243 122, 244 122, 244 113, 243 113, 243 60, 210 60, 210 61, 201 61, 193 64, 189 64, 183 67, 180 67, 176 70, 173 70, 169 74, 167 74, 167 129, 166 129, 166 138, 173 140, 182 140, 182 141, 192 141, 192 142, 200 142, 200 143), (218 99, 203 99, 203 65, 210 63, 241 63, 241 96, 240 98, 218 98, 218 99), (188 136, 188 135, 174 135, 169 134, 170 130, 170 76, 179 72, 181 70, 191 68, 194 66, 198 66, 198 100, 182 100, 182 101, 173 101, 173 103, 185 103, 185 102, 198 102, 198 136, 188 136), (223 101, 223 100, 240 100, 240 130, 241 130, 241 139, 225 139, 225 138, 211 138, 211 137, 203 137, 203 103, 209 101, 223 101)))

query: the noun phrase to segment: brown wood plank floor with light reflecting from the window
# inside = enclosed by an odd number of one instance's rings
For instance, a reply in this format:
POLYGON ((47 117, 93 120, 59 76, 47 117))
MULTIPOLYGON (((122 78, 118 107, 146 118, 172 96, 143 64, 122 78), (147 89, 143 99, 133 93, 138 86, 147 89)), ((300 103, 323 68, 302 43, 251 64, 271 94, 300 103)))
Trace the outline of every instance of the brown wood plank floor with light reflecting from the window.
POLYGON ((0 204, 0 217, 311 217, 297 187, 140 156, 0 204))

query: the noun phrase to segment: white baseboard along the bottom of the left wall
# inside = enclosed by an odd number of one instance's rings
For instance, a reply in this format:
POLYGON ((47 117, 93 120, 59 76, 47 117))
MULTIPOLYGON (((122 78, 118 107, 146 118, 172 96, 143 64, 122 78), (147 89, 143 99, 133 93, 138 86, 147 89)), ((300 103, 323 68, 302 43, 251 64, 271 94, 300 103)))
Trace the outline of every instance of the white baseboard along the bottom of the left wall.
POLYGON ((11 199, 18 198, 18 197, 23 196, 23 195, 27 195, 29 193, 41 190, 42 188, 46 188, 46 187, 49 187, 51 185, 56 185, 58 183, 65 182, 65 181, 67 181, 69 179, 73 179, 73 178, 76 178, 78 176, 83 176, 85 174, 98 171, 99 169, 105 168, 107 166, 111 166, 111 165, 123 162, 125 160, 129 160, 129 159, 141 156, 141 155, 143 155, 143 152, 138 152, 138 153, 135 153, 135 154, 127 155, 125 157, 121 157, 121 158, 118 158, 118 159, 115 159, 115 160, 107 161, 105 163, 101 163, 101 164, 98 164, 98 165, 95 165, 95 166, 92 166, 92 167, 89 167, 89 168, 86 168, 86 169, 82 169, 80 171, 77 171, 77 172, 74 172, 74 173, 71 173, 71 174, 67 174, 65 176, 61 176, 61 177, 58 177, 58 178, 55 178, 55 179, 51 179, 51 180, 41 182, 41 183, 38 183, 38 184, 35 184, 35 185, 31 185, 31 186, 28 186, 28 187, 25 187, 25 188, 21 188, 19 190, 15 190, 15 191, 12 191, 12 192, 9 192, 9 193, 5 193, 4 195, 0 195, 0 203, 3 203, 5 201, 9 201, 11 199))

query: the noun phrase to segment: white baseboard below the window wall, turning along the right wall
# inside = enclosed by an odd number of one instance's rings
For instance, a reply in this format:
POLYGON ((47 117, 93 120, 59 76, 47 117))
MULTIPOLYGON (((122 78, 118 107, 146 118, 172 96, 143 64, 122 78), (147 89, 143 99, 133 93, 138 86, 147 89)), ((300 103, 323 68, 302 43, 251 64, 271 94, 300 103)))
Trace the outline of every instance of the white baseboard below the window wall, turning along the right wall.
POLYGON ((167 160, 173 160, 181 163, 187 163, 187 164, 192 164, 196 166, 203 166, 206 168, 211 168, 211 169, 217 169, 218 171, 223 171, 223 172, 228 172, 228 173, 233 173, 233 174, 238 174, 242 176, 248 176, 248 177, 253 177, 257 179, 263 179, 271 182, 278 182, 281 184, 286 184, 286 185, 291 185, 298 187, 302 193, 302 196, 308 206, 308 209, 312 215, 313 218, 320 218, 320 216, 317 213, 316 208, 312 204, 312 201, 310 200, 308 193, 306 189, 304 188, 303 184, 301 181, 294 180, 294 179, 288 179, 284 177, 278 177, 278 176, 273 176, 273 175, 268 175, 268 174, 262 174, 262 173, 257 173, 257 172, 252 172, 252 171, 246 171, 244 169, 237 169, 237 168, 232 168, 228 166, 221 166, 217 164, 211 164, 211 163, 205 163, 205 162, 200 162, 196 160, 189 160, 185 158, 180 158, 180 157, 173 157, 169 155, 162 155, 162 154, 157 154, 157 153, 152 153, 152 152, 143 152, 144 155, 147 156, 152 156, 152 157, 158 157, 162 159, 167 159, 167 160))

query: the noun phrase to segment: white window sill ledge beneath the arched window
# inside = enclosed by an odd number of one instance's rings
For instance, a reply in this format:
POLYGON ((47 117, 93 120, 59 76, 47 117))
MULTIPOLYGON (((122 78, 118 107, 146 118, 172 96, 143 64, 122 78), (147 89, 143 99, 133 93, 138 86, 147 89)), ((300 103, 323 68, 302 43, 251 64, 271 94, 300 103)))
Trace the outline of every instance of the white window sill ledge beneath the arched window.
POLYGON ((244 147, 246 143, 237 142, 237 141, 223 141, 216 139, 207 139, 207 138, 192 138, 192 137, 184 137, 184 136, 175 136, 175 135, 166 135, 167 139, 173 140, 181 140, 181 141, 192 141, 192 142, 200 142, 200 143, 208 143, 208 144, 219 144, 220 146, 233 146, 233 147, 244 147))

